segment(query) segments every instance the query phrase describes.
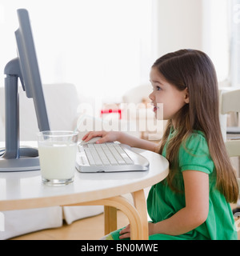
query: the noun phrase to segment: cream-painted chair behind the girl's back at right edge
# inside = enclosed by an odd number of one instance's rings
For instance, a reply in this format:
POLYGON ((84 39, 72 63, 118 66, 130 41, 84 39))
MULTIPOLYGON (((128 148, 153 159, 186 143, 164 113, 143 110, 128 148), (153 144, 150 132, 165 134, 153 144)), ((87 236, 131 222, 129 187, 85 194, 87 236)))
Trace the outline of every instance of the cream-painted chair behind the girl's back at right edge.
MULTIPOLYGON (((239 157, 240 157, 240 127, 227 127, 227 114, 240 112, 240 90, 219 90, 220 122, 222 124, 222 136, 225 141, 226 150, 230 158, 237 158, 238 177, 239 177, 239 157), (229 130, 228 130, 229 129, 229 130), (236 132, 239 130, 239 133, 236 132), (234 131, 234 132, 231 132, 234 131), (233 136, 234 135, 234 136, 233 136)), ((238 178, 240 193, 240 178, 238 178)), ((234 213, 240 212, 240 200, 234 213)))

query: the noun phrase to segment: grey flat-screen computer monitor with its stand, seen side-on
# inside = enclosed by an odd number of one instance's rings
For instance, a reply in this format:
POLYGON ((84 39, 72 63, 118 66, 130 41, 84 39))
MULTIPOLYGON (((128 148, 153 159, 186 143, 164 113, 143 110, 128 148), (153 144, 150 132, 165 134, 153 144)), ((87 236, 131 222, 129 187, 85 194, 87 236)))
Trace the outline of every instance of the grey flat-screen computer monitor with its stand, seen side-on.
POLYGON ((33 98, 39 130, 50 130, 29 14, 25 9, 19 9, 17 13, 19 28, 15 37, 18 58, 8 62, 4 70, 6 139, 5 153, 0 157, 0 172, 40 169, 38 150, 19 146, 18 78, 26 96, 33 98))

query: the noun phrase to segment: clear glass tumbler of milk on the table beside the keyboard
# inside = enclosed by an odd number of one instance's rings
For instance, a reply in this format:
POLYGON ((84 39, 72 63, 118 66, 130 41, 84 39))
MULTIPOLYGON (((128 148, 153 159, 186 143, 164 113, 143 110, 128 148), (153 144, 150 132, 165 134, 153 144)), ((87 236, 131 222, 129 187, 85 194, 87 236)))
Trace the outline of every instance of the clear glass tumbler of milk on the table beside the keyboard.
POLYGON ((66 185, 74 181, 78 132, 46 130, 38 133, 42 182, 66 185))

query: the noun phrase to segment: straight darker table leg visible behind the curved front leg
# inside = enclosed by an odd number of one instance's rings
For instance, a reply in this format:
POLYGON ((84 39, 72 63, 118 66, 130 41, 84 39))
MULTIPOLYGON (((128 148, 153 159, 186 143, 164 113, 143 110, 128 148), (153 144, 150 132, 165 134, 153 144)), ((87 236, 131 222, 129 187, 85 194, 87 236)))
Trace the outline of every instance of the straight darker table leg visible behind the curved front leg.
POLYGON ((104 206, 104 223, 105 234, 117 230, 117 209, 115 207, 104 206))

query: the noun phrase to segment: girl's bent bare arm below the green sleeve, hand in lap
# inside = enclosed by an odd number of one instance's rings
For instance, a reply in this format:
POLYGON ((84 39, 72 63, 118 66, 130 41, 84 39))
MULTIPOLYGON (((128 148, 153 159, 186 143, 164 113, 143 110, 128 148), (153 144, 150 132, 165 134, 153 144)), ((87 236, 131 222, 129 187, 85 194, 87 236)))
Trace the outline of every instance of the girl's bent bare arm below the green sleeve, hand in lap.
MULTIPOLYGON (((149 234, 185 234, 206 221, 209 210, 209 177, 197 170, 183 171, 186 207, 162 222, 149 223, 149 234)), ((119 238, 130 237, 130 226, 119 238)))

